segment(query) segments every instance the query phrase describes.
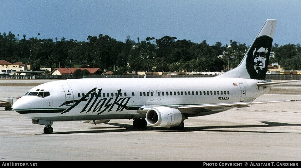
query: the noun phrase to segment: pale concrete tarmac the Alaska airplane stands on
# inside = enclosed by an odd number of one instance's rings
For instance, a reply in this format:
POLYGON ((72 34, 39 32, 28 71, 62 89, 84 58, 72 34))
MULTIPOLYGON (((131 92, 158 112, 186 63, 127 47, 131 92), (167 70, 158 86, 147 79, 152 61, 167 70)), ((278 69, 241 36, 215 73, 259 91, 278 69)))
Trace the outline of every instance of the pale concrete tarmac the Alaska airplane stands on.
MULTIPOLYGON (((16 101, 32 87, 2 85, 0 100, 16 101)), ((301 95, 266 94, 256 101, 290 99, 301 95)), ((301 101, 233 108, 190 117, 182 131, 136 130, 133 120, 57 121, 50 135, 0 107, 0 161, 300 161, 300 107, 301 101)))

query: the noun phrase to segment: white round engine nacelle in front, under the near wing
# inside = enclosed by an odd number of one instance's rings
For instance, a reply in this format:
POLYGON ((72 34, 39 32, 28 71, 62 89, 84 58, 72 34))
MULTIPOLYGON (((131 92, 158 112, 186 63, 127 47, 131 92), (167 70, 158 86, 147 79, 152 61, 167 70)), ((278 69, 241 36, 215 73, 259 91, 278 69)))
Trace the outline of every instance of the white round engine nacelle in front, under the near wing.
POLYGON ((178 109, 160 106, 148 110, 145 119, 150 126, 178 126, 183 117, 178 109))

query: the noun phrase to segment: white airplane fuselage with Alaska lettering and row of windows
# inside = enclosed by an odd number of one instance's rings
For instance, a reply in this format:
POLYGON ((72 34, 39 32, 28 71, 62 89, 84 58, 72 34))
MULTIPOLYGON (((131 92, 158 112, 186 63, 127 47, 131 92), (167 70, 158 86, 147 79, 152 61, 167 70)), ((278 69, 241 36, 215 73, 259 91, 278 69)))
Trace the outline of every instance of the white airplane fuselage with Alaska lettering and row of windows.
MULTIPOLYGON (((253 101, 270 90, 258 87, 256 83, 260 82, 217 77, 68 79, 32 88, 13 104, 13 109, 29 118, 48 121, 145 118, 142 106, 253 101)), ((180 111, 186 116, 202 116, 228 109, 180 111)))

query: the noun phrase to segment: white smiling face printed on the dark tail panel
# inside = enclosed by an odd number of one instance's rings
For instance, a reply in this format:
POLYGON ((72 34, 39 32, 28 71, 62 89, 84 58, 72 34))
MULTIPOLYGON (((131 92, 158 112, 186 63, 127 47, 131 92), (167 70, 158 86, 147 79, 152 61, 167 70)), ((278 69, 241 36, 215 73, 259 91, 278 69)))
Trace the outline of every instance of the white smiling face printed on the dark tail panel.
POLYGON ((253 51, 254 56, 254 70, 258 73, 259 70, 263 70, 265 67, 265 61, 267 59, 268 50, 266 48, 260 47, 253 51))

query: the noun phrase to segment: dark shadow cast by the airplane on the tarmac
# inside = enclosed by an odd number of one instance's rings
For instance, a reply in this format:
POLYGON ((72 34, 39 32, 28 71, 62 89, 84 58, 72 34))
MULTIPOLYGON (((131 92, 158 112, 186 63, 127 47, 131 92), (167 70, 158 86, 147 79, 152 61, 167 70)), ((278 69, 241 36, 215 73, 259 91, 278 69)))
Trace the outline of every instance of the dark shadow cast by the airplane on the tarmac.
MULTIPOLYGON (((206 131, 206 132, 254 132, 254 133, 285 133, 285 134, 301 134, 301 132, 275 132, 275 131, 242 131, 242 130, 222 130, 224 128, 261 128, 261 127, 274 127, 274 126, 301 126, 301 124, 290 124, 281 122, 261 121, 266 125, 236 125, 236 126, 186 126, 183 130, 174 130, 169 127, 151 127, 147 126, 145 129, 134 128, 131 124, 120 123, 107 123, 111 126, 117 127, 88 127, 93 129, 88 131, 67 131, 67 132, 53 132, 52 134, 80 134, 80 133, 105 133, 105 132, 128 132, 128 131, 156 131, 156 132, 193 132, 193 131, 206 131), (120 129, 125 128, 125 129, 120 129), (105 129, 105 130, 104 130, 105 129), (212 130, 219 129, 219 130, 212 130)), ((43 134, 38 134, 43 135, 43 134)))

